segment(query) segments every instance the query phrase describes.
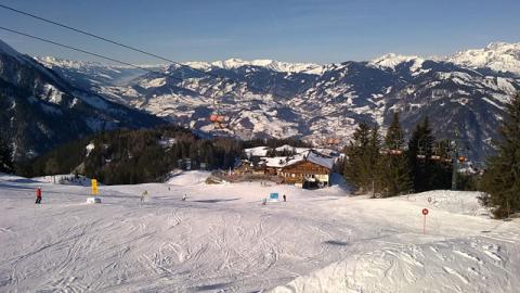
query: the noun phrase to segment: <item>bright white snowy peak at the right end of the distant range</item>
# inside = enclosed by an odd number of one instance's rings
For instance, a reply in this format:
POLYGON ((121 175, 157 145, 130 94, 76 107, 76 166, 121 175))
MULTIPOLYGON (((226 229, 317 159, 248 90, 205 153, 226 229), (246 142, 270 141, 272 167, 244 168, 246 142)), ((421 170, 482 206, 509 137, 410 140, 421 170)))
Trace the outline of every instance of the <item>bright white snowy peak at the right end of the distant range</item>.
POLYGON ((492 42, 483 49, 460 51, 446 61, 470 68, 491 68, 520 76, 520 42, 492 42))

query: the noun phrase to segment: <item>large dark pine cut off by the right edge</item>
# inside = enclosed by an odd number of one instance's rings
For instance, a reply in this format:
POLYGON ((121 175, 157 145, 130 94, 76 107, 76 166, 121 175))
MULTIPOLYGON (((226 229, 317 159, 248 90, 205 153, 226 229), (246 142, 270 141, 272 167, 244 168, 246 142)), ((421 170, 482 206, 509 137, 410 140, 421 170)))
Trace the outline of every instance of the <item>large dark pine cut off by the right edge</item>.
POLYGON ((503 218, 520 211, 520 93, 506 105, 506 115, 496 142, 497 154, 487 160, 481 200, 503 218))

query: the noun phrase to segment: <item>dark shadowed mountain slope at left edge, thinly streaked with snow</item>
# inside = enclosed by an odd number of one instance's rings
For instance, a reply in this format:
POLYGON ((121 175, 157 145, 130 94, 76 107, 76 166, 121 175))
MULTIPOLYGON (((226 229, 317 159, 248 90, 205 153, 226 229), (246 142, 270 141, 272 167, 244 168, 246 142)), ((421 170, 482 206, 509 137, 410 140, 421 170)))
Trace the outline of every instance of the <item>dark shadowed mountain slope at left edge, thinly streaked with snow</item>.
POLYGON ((104 129, 165 123, 76 87, 1 41, 0 107, 1 135, 12 142, 16 160, 104 129))

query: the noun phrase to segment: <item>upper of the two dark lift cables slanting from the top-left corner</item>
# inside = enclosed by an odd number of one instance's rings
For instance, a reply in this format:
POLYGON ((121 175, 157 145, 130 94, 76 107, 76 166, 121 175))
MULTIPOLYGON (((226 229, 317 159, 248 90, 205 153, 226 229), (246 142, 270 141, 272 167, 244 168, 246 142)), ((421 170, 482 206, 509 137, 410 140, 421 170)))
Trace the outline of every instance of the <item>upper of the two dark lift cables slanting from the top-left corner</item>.
MULTIPOLYGON (((80 29, 80 28, 76 28, 76 27, 73 27, 73 26, 69 26, 69 25, 66 25, 66 24, 63 24, 63 23, 58 23, 58 22, 55 22, 55 21, 51 21, 49 18, 44 18, 42 16, 38 16, 36 14, 32 14, 32 13, 29 13, 29 12, 25 12, 25 11, 22 11, 22 10, 18 10, 18 9, 15 9, 15 8, 11 8, 11 7, 8 7, 5 4, 2 4, 0 3, 0 8, 2 9, 5 9, 5 10, 10 10, 12 12, 15 12, 15 13, 18 13, 18 14, 23 14, 23 15, 26 15, 28 17, 32 17, 32 18, 36 18, 36 20, 39 20, 39 21, 42 21, 42 22, 46 22, 46 23, 49 23, 49 24, 52 24, 52 25, 56 25, 56 26, 60 26, 62 28, 66 28, 66 29, 69 29, 69 30, 73 30, 73 31, 76 31, 76 33, 79 33, 79 34, 82 34, 82 35, 86 35, 86 36, 89 36, 89 37, 92 37, 92 38, 95 38, 95 39, 99 39, 99 40, 103 40, 105 42, 109 42, 112 44, 116 44, 116 46, 119 46, 119 47, 122 47, 122 48, 126 48, 128 50, 132 50, 134 52, 139 52, 139 53, 142 53, 142 54, 145 54, 145 55, 148 55, 148 56, 153 56, 153 58, 156 58, 156 59, 159 59, 159 60, 162 60, 162 61, 166 61, 166 62, 169 62, 169 63, 172 63, 172 64, 176 64, 176 65, 179 65, 181 67, 184 67, 184 68, 190 68, 192 71, 195 71, 195 72, 198 72, 200 74, 204 74, 204 75, 207 75, 207 76, 212 76, 212 77, 216 77, 216 78, 224 78, 224 79, 227 79, 232 82, 236 82, 236 84, 239 84, 239 81, 233 79, 233 78, 230 78, 230 77, 226 77, 226 76, 222 76, 222 75, 218 75, 218 74, 213 74, 213 73, 210 73, 210 72, 206 72, 206 71, 202 71, 202 69, 198 69, 198 68, 195 68, 195 67, 192 67, 190 65, 186 65, 186 64, 182 64, 180 62, 177 62, 174 60, 171 60, 169 58, 165 58, 165 56, 161 56, 161 55, 158 55, 158 54, 155 54, 155 53, 152 53, 152 52, 148 52, 148 51, 145 51, 143 49, 139 49, 139 48, 135 48, 135 47, 132 47, 132 46, 129 46, 129 44, 125 44, 122 42, 119 42, 119 41, 115 41, 115 40, 112 40, 112 39, 108 39, 108 38, 105 38, 105 37, 102 37, 102 36, 99 36, 99 35, 95 35, 95 34, 92 34, 92 33, 89 33, 87 30, 83 30, 83 29, 80 29)), ((247 81, 245 81, 246 85, 247 81)), ((263 92, 265 94, 272 94, 274 97, 277 97, 277 98, 283 98, 283 99, 288 99, 288 97, 285 97, 283 94, 280 94, 280 93, 274 93, 274 92, 268 92, 261 88, 258 88, 258 87, 255 87, 255 86, 250 86, 248 85, 249 88, 253 89, 253 90, 258 90, 260 92, 263 92)))

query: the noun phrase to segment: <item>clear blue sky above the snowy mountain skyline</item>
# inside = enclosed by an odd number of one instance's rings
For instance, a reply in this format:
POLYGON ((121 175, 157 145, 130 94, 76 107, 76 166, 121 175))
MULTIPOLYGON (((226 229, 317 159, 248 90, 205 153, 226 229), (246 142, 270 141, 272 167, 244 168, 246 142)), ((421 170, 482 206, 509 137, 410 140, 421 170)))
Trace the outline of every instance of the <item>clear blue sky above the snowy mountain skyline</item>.
MULTIPOLYGON (((520 41, 518 0, 0 0, 176 61, 330 63, 388 52, 445 55, 520 41)), ((134 63, 161 63, 0 9, 0 26, 134 63)), ((21 52, 92 58, 0 31, 21 52)))

